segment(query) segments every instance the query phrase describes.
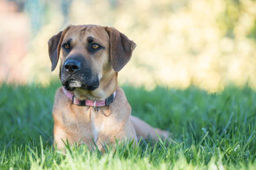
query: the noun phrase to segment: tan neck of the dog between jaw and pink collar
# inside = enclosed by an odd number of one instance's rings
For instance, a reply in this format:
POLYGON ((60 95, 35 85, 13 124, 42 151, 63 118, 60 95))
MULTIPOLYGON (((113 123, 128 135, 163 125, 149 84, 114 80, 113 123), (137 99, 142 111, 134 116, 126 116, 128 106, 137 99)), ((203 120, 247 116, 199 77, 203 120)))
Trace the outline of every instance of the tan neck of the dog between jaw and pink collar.
POLYGON ((76 88, 73 94, 79 100, 105 100, 117 88, 117 74, 117 72, 113 72, 108 78, 102 78, 100 86, 93 91, 76 88))

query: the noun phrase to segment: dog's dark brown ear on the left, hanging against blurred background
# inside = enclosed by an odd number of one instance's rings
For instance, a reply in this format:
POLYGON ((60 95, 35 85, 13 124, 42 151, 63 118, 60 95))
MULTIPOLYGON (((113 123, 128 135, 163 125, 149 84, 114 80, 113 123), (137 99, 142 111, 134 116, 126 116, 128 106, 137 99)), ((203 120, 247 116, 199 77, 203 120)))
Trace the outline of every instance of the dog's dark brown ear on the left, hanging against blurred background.
POLYGON ((69 25, 65 30, 52 36, 52 38, 50 38, 48 41, 48 53, 50 56, 50 60, 52 62, 52 71, 55 70, 57 66, 57 63, 59 60, 61 43, 62 43, 63 37, 65 36, 66 32, 69 30, 70 27, 71 25, 69 25))

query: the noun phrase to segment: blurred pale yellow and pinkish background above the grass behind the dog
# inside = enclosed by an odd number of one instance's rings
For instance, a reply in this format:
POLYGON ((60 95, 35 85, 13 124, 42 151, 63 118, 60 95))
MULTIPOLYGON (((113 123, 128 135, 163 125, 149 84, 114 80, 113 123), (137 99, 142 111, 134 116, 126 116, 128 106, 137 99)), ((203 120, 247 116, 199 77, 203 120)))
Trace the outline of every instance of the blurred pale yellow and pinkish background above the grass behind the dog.
POLYGON ((0 83, 47 85, 59 72, 48 39, 69 24, 96 24, 137 44, 119 84, 256 88, 255 0, 0 0, 0 14, 0 83))

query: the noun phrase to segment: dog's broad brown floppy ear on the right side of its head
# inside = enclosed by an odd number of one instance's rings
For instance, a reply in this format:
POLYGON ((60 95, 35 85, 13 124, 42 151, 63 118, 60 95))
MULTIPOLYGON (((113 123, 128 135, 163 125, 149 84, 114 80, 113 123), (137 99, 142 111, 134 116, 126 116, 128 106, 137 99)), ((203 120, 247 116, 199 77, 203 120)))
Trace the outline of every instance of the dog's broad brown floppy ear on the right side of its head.
POLYGON ((130 60, 136 44, 114 28, 105 28, 110 37, 110 58, 113 69, 118 72, 130 60))

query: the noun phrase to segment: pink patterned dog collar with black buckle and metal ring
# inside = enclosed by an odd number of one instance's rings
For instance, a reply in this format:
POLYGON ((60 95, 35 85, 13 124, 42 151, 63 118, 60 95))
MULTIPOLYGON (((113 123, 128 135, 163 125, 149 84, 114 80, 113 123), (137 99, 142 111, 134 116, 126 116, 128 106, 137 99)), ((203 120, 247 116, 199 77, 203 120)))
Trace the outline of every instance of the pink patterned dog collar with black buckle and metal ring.
MULTIPOLYGON (((111 102, 114 101, 114 98, 116 96, 116 91, 114 91, 113 94, 111 94, 106 100, 78 100, 72 93, 70 93, 68 90, 63 87, 63 92, 66 94, 66 96, 72 100, 73 104, 76 104, 78 106, 93 106, 98 107, 97 111, 99 110, 100 106, 108 106, 111 102)), ((96 109, 95 109, 96 111, 96 109)))

